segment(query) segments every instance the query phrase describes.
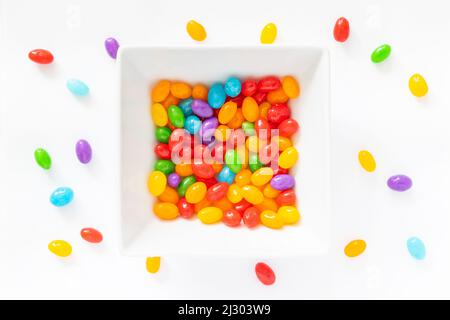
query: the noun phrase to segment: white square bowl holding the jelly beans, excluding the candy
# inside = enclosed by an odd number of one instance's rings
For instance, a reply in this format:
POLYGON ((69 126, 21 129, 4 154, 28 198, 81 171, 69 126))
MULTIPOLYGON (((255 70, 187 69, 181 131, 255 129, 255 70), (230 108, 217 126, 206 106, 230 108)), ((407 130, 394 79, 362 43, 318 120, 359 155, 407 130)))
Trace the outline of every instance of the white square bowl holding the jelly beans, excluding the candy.
POLYGON ((119 51, 121 110, 120 247, 126 255, 233 255, 277 257, 326 254, 330 242, 329 55, 320 48, 122 47, 119 51), (300 161, 296 179, 301 223, 281 230, 204 225, 198 219, 161 221, 152 212, 147 177, 155 163, 150 88, 161 79, 212 84, 293 75, 301 97, 290 101, 301 126, 294 141, 300 161))

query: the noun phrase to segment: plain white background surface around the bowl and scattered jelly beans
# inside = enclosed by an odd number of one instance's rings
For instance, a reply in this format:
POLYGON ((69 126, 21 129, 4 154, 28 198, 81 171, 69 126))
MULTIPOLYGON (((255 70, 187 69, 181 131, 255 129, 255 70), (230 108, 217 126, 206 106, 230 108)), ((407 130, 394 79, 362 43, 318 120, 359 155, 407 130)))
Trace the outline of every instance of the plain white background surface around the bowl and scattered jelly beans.
POLYGON ((438 0, 1 1, 0 298, 450 298, 448 9, 438 0), (351 24, 343 45, 332 37, 340 16, 351 24), (273 21, 278 44, 330 49, 333 246, 322 257, 268 261, 278 277, 271 287, 256 280, 254 259, 163 257, 151 275, 145 257, 117 250, 116 69, 103 41, 192 44, 192 18, 208 32, 199 45, 257 44, 273 21), (371 51, 385 42, 391 57, 373 65, 371 51), (28 60, 39 47, 55 54, 53 65, 28 60), (415 72, 429 84, 422 100, 408 91, 415 72), (67 91, 70 77, 90 86, 87 101, 67 91), (88 167, 75 158, 80 138, 93 146, 88 167), (34 163, 41 146, 50 173, 34 163), (375 155, 375 173, 359 167, 361 149, 375 155), (414 181, 402 194, 386 187, 399 173, 414 181), (76 192, 64 212, 48 201, 60 185, 76 192), (86 226, 105 242, 83 242, 86 226), (425 242, 426 260, 408 255, 410 236, 425 242), (47 250, 60 238, 74 246, 67 260, 47 250), (343 247, 357 238, 368 248, 349 260, 343 247))

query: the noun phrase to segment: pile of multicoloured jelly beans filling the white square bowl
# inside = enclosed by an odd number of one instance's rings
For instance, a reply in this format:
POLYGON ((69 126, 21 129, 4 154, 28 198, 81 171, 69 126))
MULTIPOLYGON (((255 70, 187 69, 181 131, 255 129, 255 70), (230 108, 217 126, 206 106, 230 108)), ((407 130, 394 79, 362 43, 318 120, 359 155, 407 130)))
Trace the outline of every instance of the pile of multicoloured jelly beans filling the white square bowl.
POLYGON ((205 224, 296 224, 299 131, 289 100, 299 97, 292 76, 266 76, 193 86, 161 80, 151 90, 157 160, 148 189, 164 220, 197 216, 205 224))

